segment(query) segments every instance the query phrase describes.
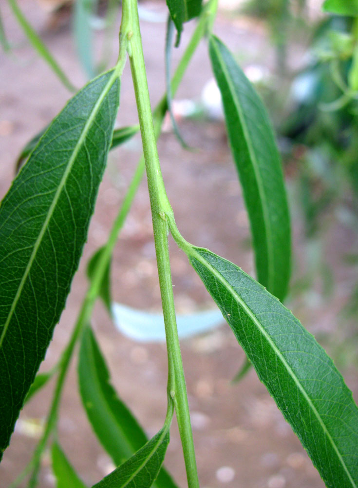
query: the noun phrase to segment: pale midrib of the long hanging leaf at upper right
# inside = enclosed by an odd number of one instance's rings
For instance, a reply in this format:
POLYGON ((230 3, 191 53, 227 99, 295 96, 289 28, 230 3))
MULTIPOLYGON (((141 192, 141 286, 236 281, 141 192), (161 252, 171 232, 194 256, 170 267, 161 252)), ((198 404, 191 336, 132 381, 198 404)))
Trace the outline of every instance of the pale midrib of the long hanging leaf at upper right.
MULTIPOLYGON (((269 219, 268 212, 267 212, 267 200, 266 200, 266 196, 264 193, 264 187, 263 187, 262 180, 260 178, 260 172, 259 172, 258 167, 257 167, 258 162, 257 162, 257 158, 256 158, 254 148, 251 144, 251 139, 250 139, 249 131, 248 131, 248 128, 247 128, 247 125, 245 122, 245 117, 244 117, 243 111, 241 110, 240 103, 238 103, 237 98, 236 98, 235 87, 233 86, 233 84, 231 82, 231 78, 230 78, 229 73, 226 69, 226 65, 221 61, 220 51, 216 45, 216 40, 214 38, 212 41, 212 46, 214 47, 214 49, 216 51, 216 57, 217 57, 217 60, 221 66, 221 69, 223 70, 224 74, 226 75, 226 81, 228 84, 228 88, 230 90, 231 97, 234 101, 234 105, 237 109, 239 119, 240 119, 241 125, 243 127, 243 132, 245 134, 245 142, 246 142, 247 149, 248 149, 251 161, 252 161, 252 167, 254 169, 254 174, 255 174, 260 198, 261 198, 261 201, 263 203, 265 203, 265 205, 262 204, 261 207, 262 207, 262 212, 263 212, 263 217, 264 217, 264 226, 265 226, 265 230, 266 230, 265 235, 266 235, 267 254, 269 256, 268 264, 267 264, 267 267, 268 267, 268 270, 267 270, 267 275, 268 275, 267 289, 273 291, 274 275, 275 275, 274 267, 275 266, 274 266, 274 251, 273 251, 273 244, 272 244, 272 231, 271 231, 270 219, 269 219)), ((258 272, 258 270, 257 270, 257 272, 258 272)))

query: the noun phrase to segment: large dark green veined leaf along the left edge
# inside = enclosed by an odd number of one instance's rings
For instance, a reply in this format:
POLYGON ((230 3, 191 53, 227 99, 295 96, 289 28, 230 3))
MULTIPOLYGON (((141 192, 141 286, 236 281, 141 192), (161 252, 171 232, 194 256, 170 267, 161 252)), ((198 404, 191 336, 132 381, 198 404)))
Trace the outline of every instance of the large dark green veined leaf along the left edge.
POLYGON ((111 71, 54 119, 0 206, 0 451, 44 358, 87 238, 112 141, 111 71))

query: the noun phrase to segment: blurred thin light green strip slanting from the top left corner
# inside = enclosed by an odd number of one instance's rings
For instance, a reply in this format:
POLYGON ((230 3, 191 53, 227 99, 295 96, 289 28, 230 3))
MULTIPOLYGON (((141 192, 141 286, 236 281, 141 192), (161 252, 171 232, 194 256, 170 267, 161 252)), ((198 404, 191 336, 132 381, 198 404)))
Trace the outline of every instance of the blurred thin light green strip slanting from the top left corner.
POLYGON ((37 50, 38 54, 43 58, 44 61, 50 66, 53 72, 57 75, 58 79, 68 88, 70 91, 75 91, 74 85, 69 81, 63 70, 58 65, 57 61, 54 59, 50 51, 47 49, 45 44, 38 37, 36 31, 32 28, 29 22, 24 17, 23 13, 19 9, 19 5, 16 0, 8 0, 16 19, 18 20, 22 30, 27 36, 27 39, 31 42, 33 47, 37 50))

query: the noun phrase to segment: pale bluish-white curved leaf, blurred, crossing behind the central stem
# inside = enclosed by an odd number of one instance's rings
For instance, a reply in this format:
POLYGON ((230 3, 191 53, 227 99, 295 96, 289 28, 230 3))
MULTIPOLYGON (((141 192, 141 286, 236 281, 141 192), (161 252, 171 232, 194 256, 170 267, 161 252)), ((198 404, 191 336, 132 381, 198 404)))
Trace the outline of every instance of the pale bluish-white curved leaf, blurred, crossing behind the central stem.
MULTIPOLYGON (((115 326, 126 336, 136 341, 165 341, 163 313, 145 312, 127 305, 112 304, 115 326)), ((223 323, 219 310, 177 314, 178 334, 181 339, 202 334, 223 323)))

